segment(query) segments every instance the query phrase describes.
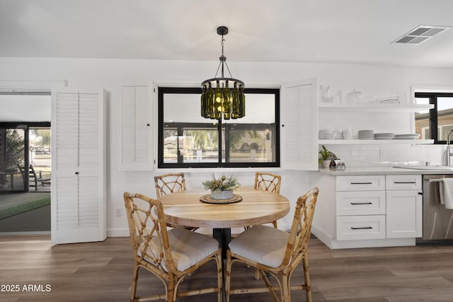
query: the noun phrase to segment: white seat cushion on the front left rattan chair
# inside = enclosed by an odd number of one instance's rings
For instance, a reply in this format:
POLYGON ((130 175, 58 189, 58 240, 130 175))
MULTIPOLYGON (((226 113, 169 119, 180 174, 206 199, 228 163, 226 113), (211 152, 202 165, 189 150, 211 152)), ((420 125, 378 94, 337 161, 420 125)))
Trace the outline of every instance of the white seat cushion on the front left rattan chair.
MULTIPOLYGON (((182 272, 197 264, 219 249, 219 243, 212 237, 185 230, 173 228, 168 231, 168 242, 176 269, 182 272)), ((151 248, 154 250, 154 248, 151 248)), ((140 252, 138 252, 140 256, 140 252)), ((147 260, 147 257, 145 257, 147 260)), ((152 263, 152 261, 147 260, 152 263)), ((168 269, 162 263, 162 267, 168 269)))

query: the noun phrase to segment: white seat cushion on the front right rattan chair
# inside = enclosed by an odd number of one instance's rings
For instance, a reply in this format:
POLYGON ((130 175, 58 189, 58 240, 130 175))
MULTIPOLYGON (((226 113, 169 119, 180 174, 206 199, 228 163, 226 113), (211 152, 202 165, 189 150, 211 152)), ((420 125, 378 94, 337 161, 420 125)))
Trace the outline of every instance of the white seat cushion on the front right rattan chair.
POLYGON ((270 226, 253 226, 229 243, 233 254, 268 267, 280 267, 289 233, 270 226))

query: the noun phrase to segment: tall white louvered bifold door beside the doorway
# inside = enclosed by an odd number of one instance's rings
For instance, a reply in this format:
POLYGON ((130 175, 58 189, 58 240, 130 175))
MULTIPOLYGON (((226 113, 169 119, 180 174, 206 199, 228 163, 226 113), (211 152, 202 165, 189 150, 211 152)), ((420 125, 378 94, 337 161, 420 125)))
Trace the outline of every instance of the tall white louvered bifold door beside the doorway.
POLYGON ((104 240, 104 91, 52 91, 52 155, 52 243, 104 240))

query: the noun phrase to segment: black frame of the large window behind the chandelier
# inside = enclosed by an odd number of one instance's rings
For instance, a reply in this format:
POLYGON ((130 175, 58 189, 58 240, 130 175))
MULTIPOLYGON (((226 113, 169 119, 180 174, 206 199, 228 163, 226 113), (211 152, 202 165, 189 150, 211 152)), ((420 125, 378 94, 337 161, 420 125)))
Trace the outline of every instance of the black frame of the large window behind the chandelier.
MULTIPOLYGON (((193 123, 193 122, 174 122, 171 123, 173 126, 176 126, 178 129, 182 129, 183 127, 193 127, 195 124, 201 127, 212 127, 213 122, 217 122, 216 128, 217 133, 219 135, 219 160, 214 163, 164 163, 164 129, 166 128, 167 124, 164 123, 164 94, 166 93, 190 93, 190 94, 198 94, 201 97, 202 89, 201 88, 193 88, 193 87, 157 87, 157 112, 158 112, 158 135, 157 135, 157 168, 158 169, 166 169, 166 168, 280 168, 280 88, 245 88, 245 94, 273 94, 275 95, 275 124, 274 124, 274 131, 275 131, 275 161, 273 162, 236 162, 230 163, 228 161, 222 162, 222 149, 224 149, 224 157, 228 156, 229 154, 229 143, 223 139, 223 135, 225 132, 225 137, 227 137, 226 132, 228 131, 229 127, 224 127, 225 124, 221 124, 219 120, 207 120, 206 123, 193 123), (223 127, 223 129, 222 129, 223 127), (223 148, 222 144, 225 141, 225 148, 223 148)), ((231 121, 231 120, 230 120, 231 121)), ((240 123, 241 119, 237 120, 240 123)), ((236 124, 236 129, 239 128, 250 128, 250 127, 258 127, 263 128, 266 124, 244 124, 243 127, 240 124, 236 124)), ((267 124, 269 125, 269 124, 267 124)))

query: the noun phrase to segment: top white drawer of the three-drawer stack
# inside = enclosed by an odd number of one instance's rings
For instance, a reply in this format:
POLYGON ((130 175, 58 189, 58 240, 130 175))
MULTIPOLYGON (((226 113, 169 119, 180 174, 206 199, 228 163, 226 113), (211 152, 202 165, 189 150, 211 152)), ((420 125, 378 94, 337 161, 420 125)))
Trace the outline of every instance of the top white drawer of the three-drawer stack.
POLYGON ((337 191, 385 190, 385 175, 348 175, 336 177, 337 191))

